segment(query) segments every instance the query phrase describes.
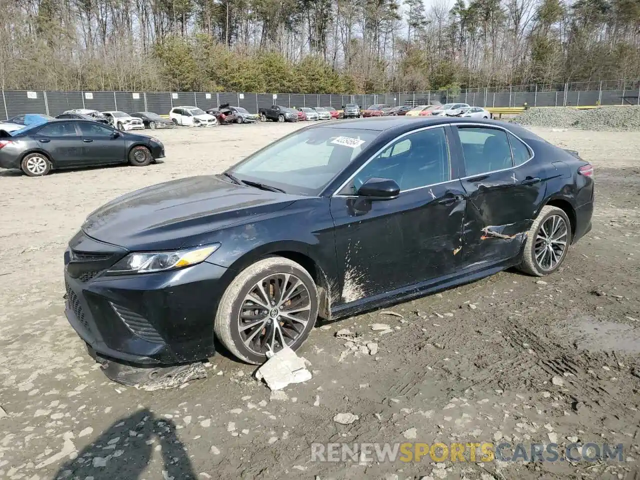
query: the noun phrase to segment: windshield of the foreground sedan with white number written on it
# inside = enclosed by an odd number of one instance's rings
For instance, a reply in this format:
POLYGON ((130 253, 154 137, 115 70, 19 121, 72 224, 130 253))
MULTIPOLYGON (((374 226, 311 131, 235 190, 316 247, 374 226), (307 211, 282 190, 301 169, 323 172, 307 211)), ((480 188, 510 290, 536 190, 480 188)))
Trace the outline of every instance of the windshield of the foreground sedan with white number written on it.
POLYGON ((378 134, 359 129, 300 130, 262 148, 229 173, 294 195, 318 195, 378 134))

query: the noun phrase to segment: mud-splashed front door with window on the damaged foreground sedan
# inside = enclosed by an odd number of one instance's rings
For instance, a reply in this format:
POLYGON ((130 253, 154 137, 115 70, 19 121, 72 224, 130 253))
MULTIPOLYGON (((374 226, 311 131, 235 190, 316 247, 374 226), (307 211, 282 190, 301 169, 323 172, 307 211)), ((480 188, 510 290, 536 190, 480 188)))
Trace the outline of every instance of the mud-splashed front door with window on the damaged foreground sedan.
POLYGON ((332 197, 342 303, 454 273, 466 198, 457 175, 452 177, 449 151, 444 127, 412 132, 332 197), (358 197, 358 188, 373 177, 395 180, 399 197, 358 197))

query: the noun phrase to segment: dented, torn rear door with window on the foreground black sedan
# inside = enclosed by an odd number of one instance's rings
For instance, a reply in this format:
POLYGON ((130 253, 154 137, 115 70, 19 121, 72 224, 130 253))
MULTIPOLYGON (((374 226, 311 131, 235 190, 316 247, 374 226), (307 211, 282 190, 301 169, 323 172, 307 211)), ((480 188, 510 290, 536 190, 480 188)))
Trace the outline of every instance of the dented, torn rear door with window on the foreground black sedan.
POLYGON ((465 265, 513 259, 545 197, 540 164, 521 140, 500 127, 459 125, 467 192, 465 265))

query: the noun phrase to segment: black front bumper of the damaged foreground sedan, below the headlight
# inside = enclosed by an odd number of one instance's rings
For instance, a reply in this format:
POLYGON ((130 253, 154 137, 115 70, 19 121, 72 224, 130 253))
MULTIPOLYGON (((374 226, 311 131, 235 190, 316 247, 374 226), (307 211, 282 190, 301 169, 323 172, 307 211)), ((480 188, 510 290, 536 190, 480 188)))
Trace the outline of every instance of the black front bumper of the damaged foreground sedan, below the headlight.
MULTIPOLYGON (((83 252, 87 244, 100 245, 86 236, 83 243, 83 252)), ((126 255, 109 248, 114 251, 106 260, 70 263, 70 250, 65 252, 65 314, 86 344, 99 355, 138 365, 212 356, 227 269, 203 262, 170 272, 104 276, 107 264, 126 255)))

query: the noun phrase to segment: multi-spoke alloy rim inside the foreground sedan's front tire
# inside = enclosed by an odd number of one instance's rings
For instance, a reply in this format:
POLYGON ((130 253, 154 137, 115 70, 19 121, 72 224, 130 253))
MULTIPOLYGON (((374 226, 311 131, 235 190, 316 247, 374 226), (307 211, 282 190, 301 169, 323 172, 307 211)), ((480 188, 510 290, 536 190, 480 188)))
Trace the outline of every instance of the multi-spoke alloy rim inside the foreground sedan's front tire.
POLYGON ((311 297, 291 273, 269 275, 244 296, 238 331, 246 348, 264 355, 293 344, 310 321, 311 297))

